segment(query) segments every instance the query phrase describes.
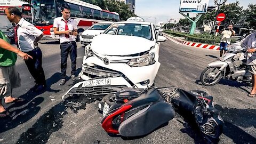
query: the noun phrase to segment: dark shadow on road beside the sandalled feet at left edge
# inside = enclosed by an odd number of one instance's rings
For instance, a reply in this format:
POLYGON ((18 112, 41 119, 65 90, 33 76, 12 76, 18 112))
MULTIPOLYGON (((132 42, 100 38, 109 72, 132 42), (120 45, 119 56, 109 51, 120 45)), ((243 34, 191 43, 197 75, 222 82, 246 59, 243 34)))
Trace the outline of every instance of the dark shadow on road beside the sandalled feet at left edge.
POLYGON ((41 109, 38 105, 44 101, 44 98, 38 97, 30 101, 27 105, 10 110, 11 117, 1 118, 0 133, 11 130, 20 124, 23 124, 34 117, 41 109))

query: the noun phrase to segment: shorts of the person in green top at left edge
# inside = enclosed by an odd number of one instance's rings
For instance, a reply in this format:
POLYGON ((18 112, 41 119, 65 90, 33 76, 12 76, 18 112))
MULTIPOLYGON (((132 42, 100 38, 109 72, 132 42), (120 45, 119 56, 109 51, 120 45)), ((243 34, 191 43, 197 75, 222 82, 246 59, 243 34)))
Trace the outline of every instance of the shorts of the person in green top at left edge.
POLYGON ((0 66, 0 99, 12 94, 12 89, 20 87, 20 75, 14 66, 0 66))

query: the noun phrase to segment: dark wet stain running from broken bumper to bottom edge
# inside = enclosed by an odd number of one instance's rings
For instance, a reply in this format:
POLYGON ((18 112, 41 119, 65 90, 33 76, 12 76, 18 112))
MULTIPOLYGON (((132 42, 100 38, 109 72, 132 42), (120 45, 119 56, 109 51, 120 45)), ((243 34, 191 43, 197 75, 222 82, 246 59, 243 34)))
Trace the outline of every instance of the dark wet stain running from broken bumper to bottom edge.
POLYGON ((63 126, 63 117, 68 114, 65 106, 68 102, 81 103, 80 107, 68 106, 73 113, 77 113, 78 110, 86 109, 86 103, 92 103, 100 99, 102 97, 90 97, 90 95, 87 95, 87 97, 67 98, 65 102, 55 105, 39 117, 33 126, 20 135, 16 143, 47 143, 50 135, 59 131, 63 126))

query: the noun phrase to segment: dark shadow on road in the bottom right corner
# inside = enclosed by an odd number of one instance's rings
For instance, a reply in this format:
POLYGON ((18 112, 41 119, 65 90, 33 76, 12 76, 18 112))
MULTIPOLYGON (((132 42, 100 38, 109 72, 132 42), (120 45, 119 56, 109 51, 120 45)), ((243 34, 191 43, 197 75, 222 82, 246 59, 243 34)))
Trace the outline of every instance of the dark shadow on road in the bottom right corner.
POLYGON ((215 107, 220 110, 221 117, 225 121, 224 135, 232 139, 234 143, 255 143, 256 138, 240 127, 256 129, 256 109, 222 108, 219 105, 215 107))

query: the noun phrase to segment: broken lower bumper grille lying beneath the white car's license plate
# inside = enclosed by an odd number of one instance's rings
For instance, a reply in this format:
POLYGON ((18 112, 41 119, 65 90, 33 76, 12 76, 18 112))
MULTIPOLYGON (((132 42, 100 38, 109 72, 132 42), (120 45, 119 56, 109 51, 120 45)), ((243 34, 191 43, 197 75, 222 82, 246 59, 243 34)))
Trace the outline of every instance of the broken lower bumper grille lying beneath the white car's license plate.
POLYGON ((92 95, 101 95, 101 94, 110 94, 116 93, 122 88, 127 87, 126 85, 118 85, 118 86, 90 86, 90 87, 82 87, 78 86, 77 88, 72 89, 67 94, 92 94, 92 95))

